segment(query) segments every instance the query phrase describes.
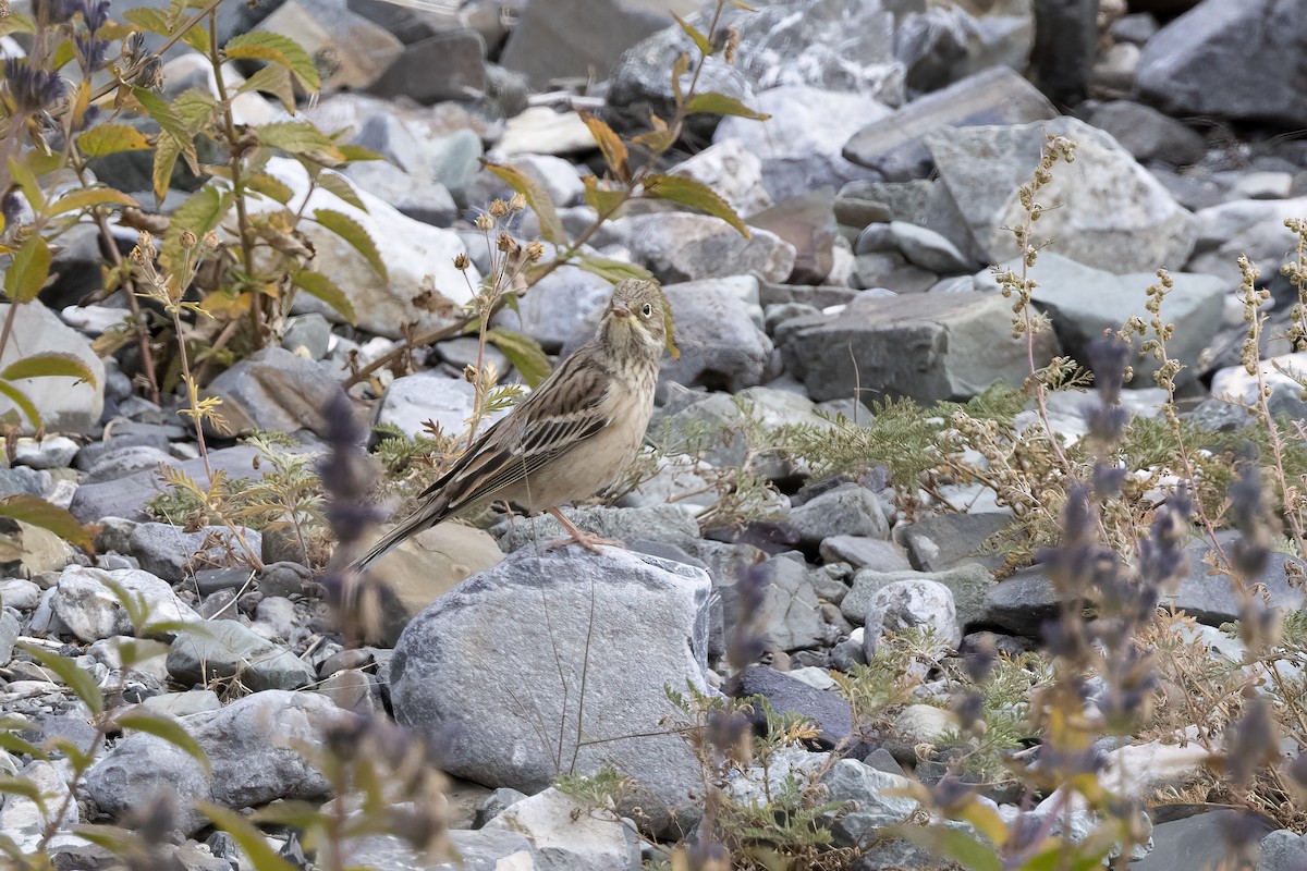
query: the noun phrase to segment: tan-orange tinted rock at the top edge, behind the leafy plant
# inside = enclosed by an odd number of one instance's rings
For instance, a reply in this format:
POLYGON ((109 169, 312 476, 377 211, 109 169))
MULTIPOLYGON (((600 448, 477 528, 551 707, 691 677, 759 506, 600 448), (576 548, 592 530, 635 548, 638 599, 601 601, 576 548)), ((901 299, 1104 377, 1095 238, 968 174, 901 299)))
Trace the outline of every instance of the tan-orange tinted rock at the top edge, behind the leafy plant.
POLYGON ((322 57, 328 91, 367 87, 404 51, 399 39, 350 12, 344 0, 285 0, 259 30, 289 37, 310 56, 322 57))

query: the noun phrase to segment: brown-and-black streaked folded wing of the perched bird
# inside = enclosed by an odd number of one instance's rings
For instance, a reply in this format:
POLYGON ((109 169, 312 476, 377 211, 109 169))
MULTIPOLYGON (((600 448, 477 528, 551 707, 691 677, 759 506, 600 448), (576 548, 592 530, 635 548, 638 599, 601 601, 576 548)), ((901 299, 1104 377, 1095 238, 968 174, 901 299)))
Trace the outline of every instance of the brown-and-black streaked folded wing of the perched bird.
POLYGON ((610 383, 592 355, 572 354, 507 417, 486 430, 420 498, 442 494, 447 499, 446 511, 454 513, 468 503, 493 499, 495 492, 529 481, 544 464, 612 422, 613 404, 605 401, 610 383))

